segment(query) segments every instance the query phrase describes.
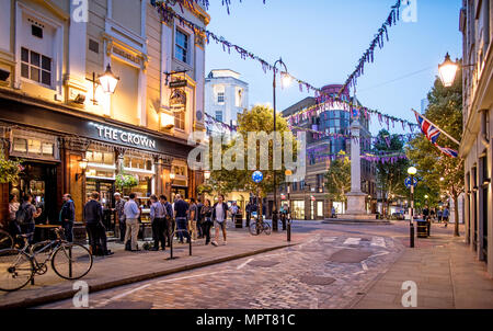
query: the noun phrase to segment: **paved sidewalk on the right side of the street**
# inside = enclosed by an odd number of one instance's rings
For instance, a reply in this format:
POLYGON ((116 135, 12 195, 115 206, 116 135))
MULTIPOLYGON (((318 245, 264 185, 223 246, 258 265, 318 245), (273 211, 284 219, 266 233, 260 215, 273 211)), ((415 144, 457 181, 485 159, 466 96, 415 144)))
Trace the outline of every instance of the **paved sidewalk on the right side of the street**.
POLYGON ((466 246, 463 233, 454 238, 451 231, 443 233, 442 227, 434 225, 432 235, 437 235, 417 239, 414 249, 408 247, 351 308, 406 309, 401 304, 406 290, 401 286, 413 281, 417 285, 417 309, 492 309, 493 279, 486 266, 466 246))

